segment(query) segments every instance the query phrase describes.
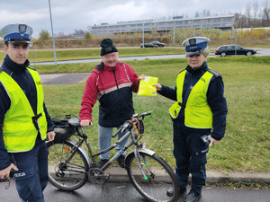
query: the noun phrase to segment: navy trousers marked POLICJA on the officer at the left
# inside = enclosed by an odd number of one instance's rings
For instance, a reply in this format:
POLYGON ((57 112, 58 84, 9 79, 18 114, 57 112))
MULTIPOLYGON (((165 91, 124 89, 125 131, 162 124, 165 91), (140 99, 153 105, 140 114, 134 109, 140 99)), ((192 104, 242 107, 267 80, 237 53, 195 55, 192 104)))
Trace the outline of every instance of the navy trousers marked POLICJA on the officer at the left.
POLYGON ((19 169, 14 179, 22 201, 43 202, 42 191, 48 183, 48 150, 45 141, 38 136, 31 151, 11 155, 19 169))

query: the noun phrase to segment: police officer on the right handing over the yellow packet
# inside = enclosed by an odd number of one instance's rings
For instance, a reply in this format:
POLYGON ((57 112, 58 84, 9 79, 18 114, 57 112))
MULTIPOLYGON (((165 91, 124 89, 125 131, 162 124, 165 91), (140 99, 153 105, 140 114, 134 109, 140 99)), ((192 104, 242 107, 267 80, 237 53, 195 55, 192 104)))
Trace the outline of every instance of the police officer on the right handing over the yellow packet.
MULTIPOLYGON (((174 100, 169 109, 174 126, 175 175, 184 194, 188 175, 192 185, 185 202, 198 201, 206 180, 206 154, 209 146, 224 136, 227 102, 220 74, 207 66, 210 40, 193 37, 184 40, 188 66, 179 73, 175 89, 157 83, 157 92, 174 100), (210 135, 209 142, 205 135, 210 135)), ((206 136, 207 137, 207 136, 206 136)), ((174 189, 168 189, 172 195, 174 189)))

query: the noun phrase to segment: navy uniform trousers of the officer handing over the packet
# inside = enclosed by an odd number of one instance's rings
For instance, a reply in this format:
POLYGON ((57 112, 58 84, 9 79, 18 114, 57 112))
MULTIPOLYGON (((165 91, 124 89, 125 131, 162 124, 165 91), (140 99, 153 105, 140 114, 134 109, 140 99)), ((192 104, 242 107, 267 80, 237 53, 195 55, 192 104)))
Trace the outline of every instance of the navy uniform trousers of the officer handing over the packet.
POLYGON ((205 185, 206 154, 209 145, 202 143, 205 132, 190 130, 174 121, 174 155, 176 160, 175 175, 181 189, 185 189, 189 173, 192 175, 192 189, 202 192, 205 185))

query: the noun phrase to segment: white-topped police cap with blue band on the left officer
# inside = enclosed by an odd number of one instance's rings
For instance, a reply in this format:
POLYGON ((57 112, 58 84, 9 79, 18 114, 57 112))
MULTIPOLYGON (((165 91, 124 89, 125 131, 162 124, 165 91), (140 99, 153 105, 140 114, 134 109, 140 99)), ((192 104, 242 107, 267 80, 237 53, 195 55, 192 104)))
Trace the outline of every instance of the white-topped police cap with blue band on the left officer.
POLYGON ((8 43, 31 43, 32 28, 26 24, 8 24, 0 30, 0 37, 8 43))

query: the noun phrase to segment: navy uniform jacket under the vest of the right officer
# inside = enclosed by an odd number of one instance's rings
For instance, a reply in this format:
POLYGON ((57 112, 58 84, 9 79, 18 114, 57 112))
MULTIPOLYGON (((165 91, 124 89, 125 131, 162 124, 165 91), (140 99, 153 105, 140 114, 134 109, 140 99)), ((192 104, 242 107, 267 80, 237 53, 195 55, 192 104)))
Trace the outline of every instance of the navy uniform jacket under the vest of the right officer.
MULTIPOLYGON (((182 95, 183 104, 186 103, 189 93, 191 92, 191 89, 193 88, 195 83, 197 83, 198 80, 202 77, 202 75, 208 70, 208 66, 206 62, 203 62, 202 66, 198 68, 192 69, 190 66, 186 66, 185 69, 187 71, 184 77, 184 89, 183 89, 183 95, 182 95)), ((160 93, 161 95, 173 101, 177 101, 176 86, 175 86, 175 89, 173 89, 165 85, 162 85, 162 90, 159 91, 158 93, 160 93)), ((202 132, 202 133, 211 132, 211 136, 214 139, 220 140, 225 134, 226 116, 228 112, 227 101, 224 98, 223 93, 224 93, 224 84, 222 81, 222 77, 218 73, 213 72, 213 76, 211 77, 211 81, 210 81, 208 91, 207 91, 207 101, 211 108, 211 112, 213 114, 212 131, 208 129, 196 129, 196 128, 185 127, 184 126, 184 107, 181 108, 178 117, 176 119, 173 119, 173 121, 176 121, 182 127, 189 130, 195 130, 197 132, 202 132)))

